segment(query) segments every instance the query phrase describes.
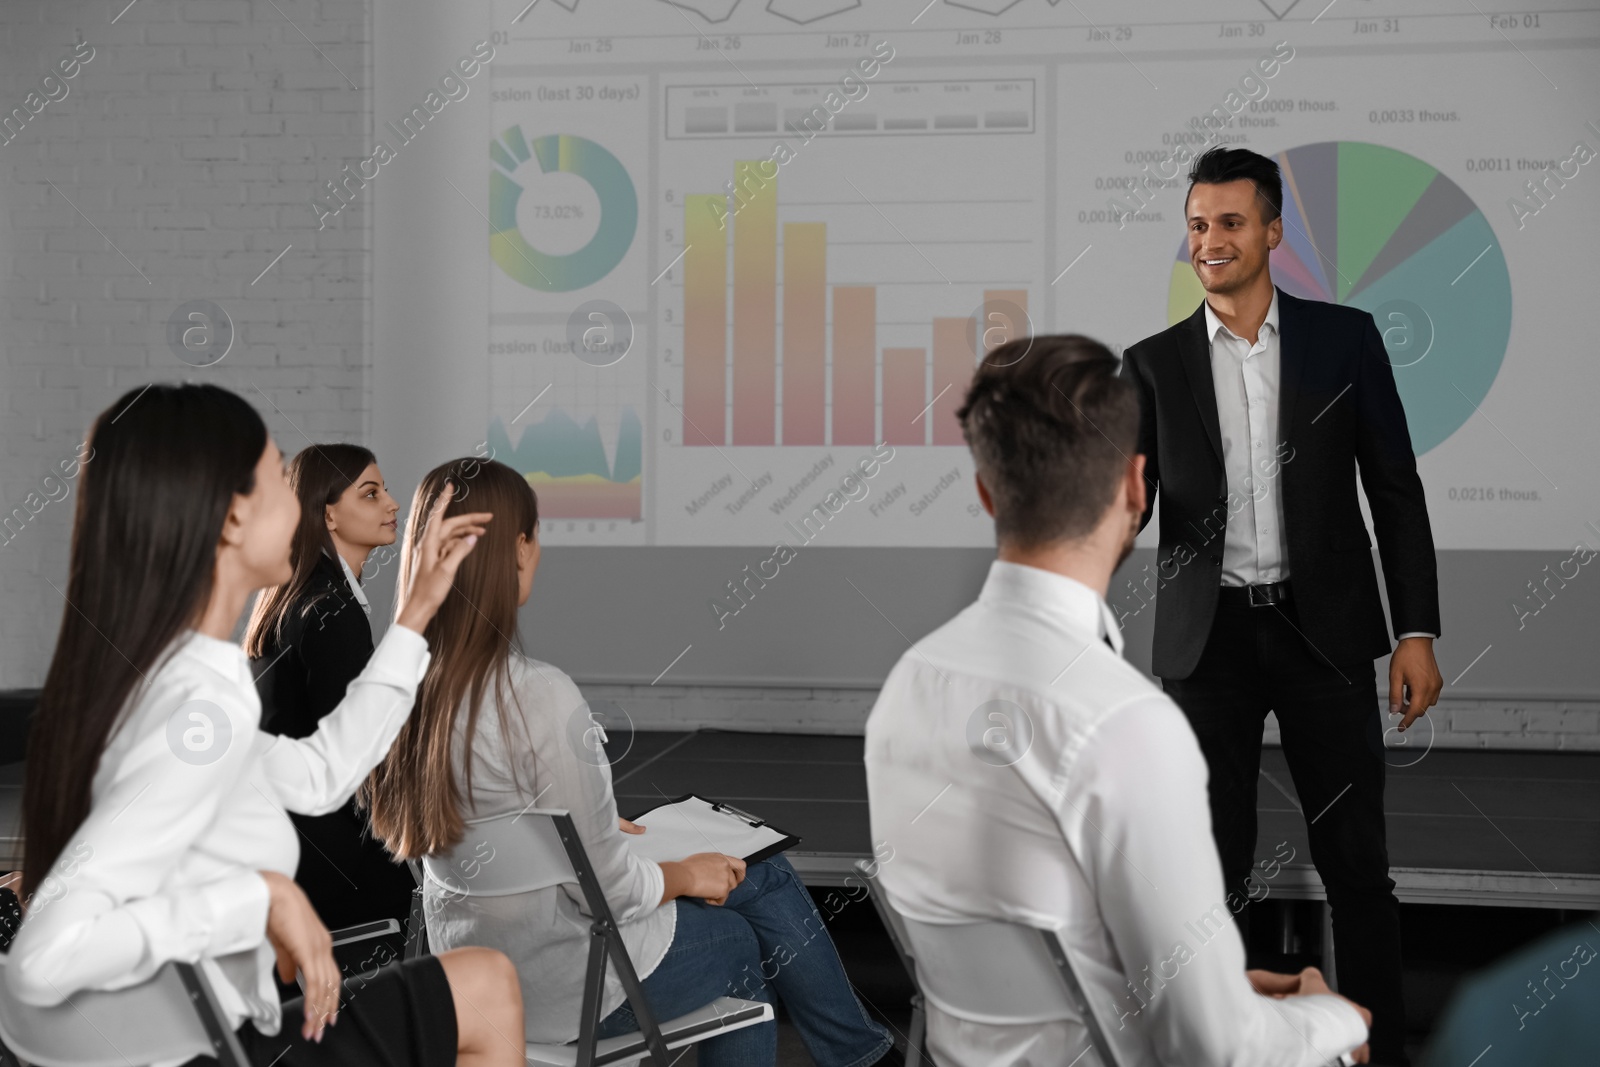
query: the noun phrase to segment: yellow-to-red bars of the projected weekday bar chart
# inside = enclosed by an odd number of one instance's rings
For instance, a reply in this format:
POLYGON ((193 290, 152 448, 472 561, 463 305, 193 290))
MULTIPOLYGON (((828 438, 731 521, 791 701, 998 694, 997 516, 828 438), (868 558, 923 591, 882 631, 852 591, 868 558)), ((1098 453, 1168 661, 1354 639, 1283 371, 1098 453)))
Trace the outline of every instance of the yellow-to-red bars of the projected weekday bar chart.
POLYGON ((778 168, 739 160, 731 187, 683 202, 682 440, 965 445, 978 352, 1027 333, 1027 290, 982 290, 978 312, 931 317, 926 344, 880 349, 877 286, 829 286, 826 222, 779 227, 778 168))

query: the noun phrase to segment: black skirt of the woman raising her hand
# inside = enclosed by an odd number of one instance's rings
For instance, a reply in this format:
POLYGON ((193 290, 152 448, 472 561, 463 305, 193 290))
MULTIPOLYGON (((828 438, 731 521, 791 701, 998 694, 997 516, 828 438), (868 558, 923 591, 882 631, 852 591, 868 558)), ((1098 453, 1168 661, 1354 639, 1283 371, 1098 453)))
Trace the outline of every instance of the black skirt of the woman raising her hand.
MULTIPOLYGON (((254 1024, 238 1029, 238 1043, 254 1067, 453 1067, 456 1062, 456 1001, 437 957, 395 961, 370 979, 344 981, 339 1021, 322 1043, 307 1041, 299 1027, 301 998, 285 1001, 283 1025, 262 1037, 254 1024)), ((184 1067, 216 1064, 200 1056, 184 1067)))

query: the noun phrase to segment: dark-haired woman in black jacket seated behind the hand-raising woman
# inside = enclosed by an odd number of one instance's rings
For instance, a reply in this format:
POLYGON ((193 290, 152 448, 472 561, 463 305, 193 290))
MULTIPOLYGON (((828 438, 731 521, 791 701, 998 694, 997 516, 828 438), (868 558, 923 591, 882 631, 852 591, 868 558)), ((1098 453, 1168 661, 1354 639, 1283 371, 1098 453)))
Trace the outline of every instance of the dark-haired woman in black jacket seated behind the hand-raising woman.
MULTIPOLYGON (((362 568, 395 542, 395 514, 373 454, 358 445, 310 445, 290 461, 301 520, 290 547, 290 581, 266 589, 245 630, 245 654, 261 694, 261 728, 309 737, 344 699, 373 654, 371 608, 362 568)), ((310 848, 294 881, 330 928, 411 913, 411 872, 390 862, 355 800, 325 816, 290 814, 310 848)))

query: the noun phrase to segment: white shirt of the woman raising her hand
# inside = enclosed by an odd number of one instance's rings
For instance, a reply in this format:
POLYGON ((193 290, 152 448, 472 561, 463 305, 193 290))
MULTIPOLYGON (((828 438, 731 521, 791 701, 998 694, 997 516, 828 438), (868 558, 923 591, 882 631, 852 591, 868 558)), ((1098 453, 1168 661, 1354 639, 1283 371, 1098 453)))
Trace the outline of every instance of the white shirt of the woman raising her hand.
POLYGON ((90 816, 22 920, 11 992, 59 1005, 136 985, 168 960, 206 971, 227 1025, 277 1033, 262 870, 294 877, 286 813, 334 811, 384 757, 427 670, 427 641, 390 625, 309 737, 262 733, 238 645, 189 630, 130 697, 91 784, 90 816))

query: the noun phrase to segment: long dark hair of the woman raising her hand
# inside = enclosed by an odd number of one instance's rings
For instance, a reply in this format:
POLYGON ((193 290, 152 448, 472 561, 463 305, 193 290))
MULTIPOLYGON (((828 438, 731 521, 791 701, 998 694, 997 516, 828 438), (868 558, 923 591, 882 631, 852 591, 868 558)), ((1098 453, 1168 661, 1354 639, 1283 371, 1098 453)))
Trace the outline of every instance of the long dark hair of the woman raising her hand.
POLYGON ((267 427, 216 386, 130 390, 94 419, 56 653, 27 742, 24 899, 90 813, 134 686, 211 598, 234 494, 256 488, 267 427))

